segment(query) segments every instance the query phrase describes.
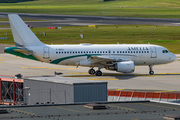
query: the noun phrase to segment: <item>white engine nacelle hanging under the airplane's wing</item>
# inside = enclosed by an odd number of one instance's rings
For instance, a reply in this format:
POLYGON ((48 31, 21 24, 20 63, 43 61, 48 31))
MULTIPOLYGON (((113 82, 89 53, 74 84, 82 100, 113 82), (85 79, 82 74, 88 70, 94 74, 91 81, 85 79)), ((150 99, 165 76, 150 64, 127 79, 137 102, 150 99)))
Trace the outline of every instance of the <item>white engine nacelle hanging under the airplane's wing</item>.
POLYGON ((106 67, 107 70, 116 70, 122 73, 132 73, 135 70, 135 64, 133 61, 117 62, 112 66, 106 67))

